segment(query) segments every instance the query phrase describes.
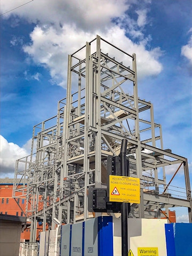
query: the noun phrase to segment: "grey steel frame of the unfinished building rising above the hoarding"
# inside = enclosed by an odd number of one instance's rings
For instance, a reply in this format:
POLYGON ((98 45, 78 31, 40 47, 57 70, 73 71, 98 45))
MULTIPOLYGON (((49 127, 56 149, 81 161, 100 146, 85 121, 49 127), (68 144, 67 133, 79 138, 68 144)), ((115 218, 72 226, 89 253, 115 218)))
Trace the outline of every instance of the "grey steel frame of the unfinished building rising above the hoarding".
POLYGON ((138 98, 135 54, 97 36, 69 55, 67 97, 58 102, 57 116, 34 126, 31 155, 16 163, 13 197, 27 199, 31 242, 39 219, 45 230, 46 223, 54 228, 54 218, 73 223, 90 217, 87 189, 106 187, 107 156, 119 154, 124 138, 130 175, 140 178, 141 188, 130 217, 159 218, 159 209, 183 206, 192 222, 187 159, 163 149, 153 104, 138 98), (170 189, 167 173, 179 164, 185 188, 170 189))

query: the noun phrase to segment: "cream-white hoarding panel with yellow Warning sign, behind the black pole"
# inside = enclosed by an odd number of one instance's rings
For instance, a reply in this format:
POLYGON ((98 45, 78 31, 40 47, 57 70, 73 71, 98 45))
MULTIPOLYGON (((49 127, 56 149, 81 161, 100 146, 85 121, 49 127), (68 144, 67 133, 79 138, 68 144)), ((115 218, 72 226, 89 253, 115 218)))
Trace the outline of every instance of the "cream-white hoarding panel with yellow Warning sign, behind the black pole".
MULTIPOLYGON (((166 256, 164 219, 132 219, 127 221, 129 255, 166 256)), ((114 256, 121 255, 121 219, 113 219, 114 256)))

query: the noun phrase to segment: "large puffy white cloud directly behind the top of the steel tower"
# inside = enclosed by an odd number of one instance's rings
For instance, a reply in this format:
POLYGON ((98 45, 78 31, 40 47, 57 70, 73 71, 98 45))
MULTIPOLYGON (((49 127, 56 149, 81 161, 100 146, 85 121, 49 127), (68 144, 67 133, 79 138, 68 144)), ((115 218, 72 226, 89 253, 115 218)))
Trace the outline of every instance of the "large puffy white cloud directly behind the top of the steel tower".
POLYGON ((78 31, 75 26, 69 25, 63 26, 59 33, 54 27, 43 29, 36 26, 30 34, 32 43, 24 46, 23 50, 33 58, 34 62, 41 63, 50 70, 55 83, 66 87, 67 55, 78 50, 86 41, 91 41, 96 34, 130 54, 136 53, 139 77, 161 73, 163 67, 158 62, 162 54, 161 50, 156 48, 147 51, 142 43, 134 44, 118 26, 109 29, 107 33, 95 31, 95 34, 78 31))

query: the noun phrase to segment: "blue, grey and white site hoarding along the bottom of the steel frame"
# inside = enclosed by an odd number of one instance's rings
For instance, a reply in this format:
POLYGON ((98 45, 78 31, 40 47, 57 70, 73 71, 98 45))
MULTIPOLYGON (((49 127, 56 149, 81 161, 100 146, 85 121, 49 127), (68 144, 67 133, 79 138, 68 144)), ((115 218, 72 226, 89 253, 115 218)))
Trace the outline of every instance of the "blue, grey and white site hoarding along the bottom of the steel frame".
MULTIPOLYGON (((192 255, 192 223, 129 218, 127 227, 129 256, 192 255)), ((38 256, 119 256, 121 243, 121 218, 98 217, 42 232, 38 256)))

